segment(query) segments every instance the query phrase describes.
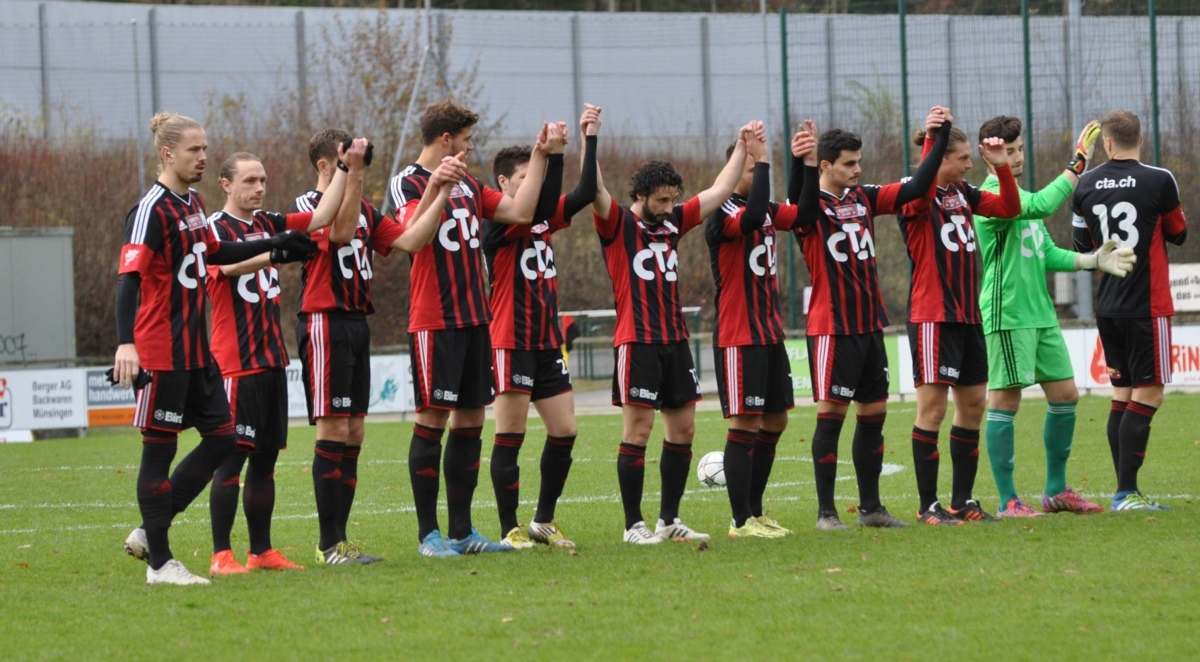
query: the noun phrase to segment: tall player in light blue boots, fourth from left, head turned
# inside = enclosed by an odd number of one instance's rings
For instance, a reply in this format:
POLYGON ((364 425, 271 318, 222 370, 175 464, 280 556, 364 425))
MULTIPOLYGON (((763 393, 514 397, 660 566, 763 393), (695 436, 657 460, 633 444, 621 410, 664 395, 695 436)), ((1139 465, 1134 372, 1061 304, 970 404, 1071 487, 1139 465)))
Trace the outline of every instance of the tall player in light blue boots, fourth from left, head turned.
MULTIPOLYGON (((408 473, 416 502, 418 552, 425 556, 457 556, 508 552, 470 522, 470 502, 479 485, 484 408, 493 401, 491 309, 484 293, 484 252, 479 224, 528 224, 546 173, 546 155, 562 151, 566 136, 558 125, 542 126, 523 185, 512 198, 466 175, 448 201, 430 199, 430 168, 446 157, 462 160, 473 149, 479 115, 443 102, 425 109, 425 148, 416 162, 391 180, 391 194, 404 223, 433 209, 439 224, 408 227, 404 235, 421 248, 412 258, 408 333, 413 355, 416 425, 408 450, 408 473), (446 480, 449 538, 438 528, 438 461, 446 423, 443 470, 446 480)), ((559 185, 562 186, 562 185, 559 185)))

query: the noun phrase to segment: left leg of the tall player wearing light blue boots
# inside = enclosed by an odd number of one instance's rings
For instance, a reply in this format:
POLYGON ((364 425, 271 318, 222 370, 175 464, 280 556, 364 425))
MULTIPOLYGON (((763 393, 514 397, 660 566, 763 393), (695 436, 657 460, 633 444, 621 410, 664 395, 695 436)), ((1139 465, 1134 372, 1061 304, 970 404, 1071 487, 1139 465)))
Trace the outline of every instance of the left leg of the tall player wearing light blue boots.
MULTIPOLYGON (((445 384, 455 367, 452 338, 446 331, 409 333, 413 357, 413 398, 416 417, 408 445, 408 480, 416 508, 418 552, 424 556, 457 556, 438 526, 438 492, 442 489, 442 435, 454 403, 445 401, 445 384)), ((461 369, 461 368, 460 368, 461 369)))

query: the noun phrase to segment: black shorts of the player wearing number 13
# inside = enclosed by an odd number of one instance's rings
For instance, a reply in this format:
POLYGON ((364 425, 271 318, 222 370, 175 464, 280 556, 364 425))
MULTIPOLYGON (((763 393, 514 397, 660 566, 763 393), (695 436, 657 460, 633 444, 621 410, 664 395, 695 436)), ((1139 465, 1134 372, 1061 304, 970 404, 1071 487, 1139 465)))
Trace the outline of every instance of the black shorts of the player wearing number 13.
POLYGON ((1171 318, 1096 318, 1114 386, 1171 381, 1171 318))

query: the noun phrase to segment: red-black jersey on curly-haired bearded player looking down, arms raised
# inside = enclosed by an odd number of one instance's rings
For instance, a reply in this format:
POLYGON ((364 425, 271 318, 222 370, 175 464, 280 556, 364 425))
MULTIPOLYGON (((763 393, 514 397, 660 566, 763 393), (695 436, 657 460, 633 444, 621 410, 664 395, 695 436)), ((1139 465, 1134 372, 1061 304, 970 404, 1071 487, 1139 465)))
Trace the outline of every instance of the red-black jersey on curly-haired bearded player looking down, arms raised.
POLYGON ((644 223, 616 199, 607 216, 592 216, 617 303, 613 345, 671 344, 686 339, 676 248, 683 235, 702 222, 700 198, 676 205, 673 218, 658 225, 644 223))

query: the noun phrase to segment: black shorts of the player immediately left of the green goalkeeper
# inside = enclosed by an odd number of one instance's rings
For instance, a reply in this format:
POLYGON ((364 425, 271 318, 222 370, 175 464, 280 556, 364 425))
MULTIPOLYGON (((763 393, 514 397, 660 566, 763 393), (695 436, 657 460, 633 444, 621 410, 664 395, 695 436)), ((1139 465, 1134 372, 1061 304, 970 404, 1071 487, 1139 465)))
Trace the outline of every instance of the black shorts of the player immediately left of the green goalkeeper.
POLYGON ((912 379, 917 386, 988 383, 988 343, 982 324, 958 321, 908 323, 912 379))

